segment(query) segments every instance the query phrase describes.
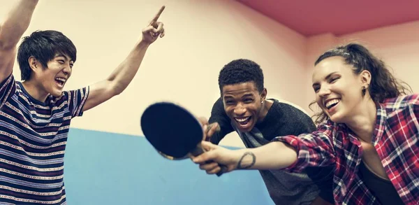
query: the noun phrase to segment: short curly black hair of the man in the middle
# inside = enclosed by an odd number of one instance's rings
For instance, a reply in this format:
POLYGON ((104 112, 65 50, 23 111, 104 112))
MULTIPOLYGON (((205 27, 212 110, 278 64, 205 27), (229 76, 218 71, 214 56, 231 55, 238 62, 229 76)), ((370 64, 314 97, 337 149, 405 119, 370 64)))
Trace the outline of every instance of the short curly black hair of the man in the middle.
POLYGON ((235 59, 226 64, 219 74, 219 88, 225 85, 253 82, 259 92, 263 91, 263 71, 259 64, 249 59, 235 59))

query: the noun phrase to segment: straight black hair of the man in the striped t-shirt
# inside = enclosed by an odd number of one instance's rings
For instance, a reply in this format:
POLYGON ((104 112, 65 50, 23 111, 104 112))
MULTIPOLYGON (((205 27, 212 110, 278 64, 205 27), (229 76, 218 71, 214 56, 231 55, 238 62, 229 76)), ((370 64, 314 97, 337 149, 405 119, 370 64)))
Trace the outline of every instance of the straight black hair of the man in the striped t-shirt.
POLYGON ((22 80, 31 78, 32 69, 29 66, 29 57, 35 57, 46 68, 47 62, 54 59, 57 54, 68 55, 73 62, 77 55, 77 49, 73 42, 61 32, 34 31, 30 36, 24 37, 17 50, 17 62, 22 80))

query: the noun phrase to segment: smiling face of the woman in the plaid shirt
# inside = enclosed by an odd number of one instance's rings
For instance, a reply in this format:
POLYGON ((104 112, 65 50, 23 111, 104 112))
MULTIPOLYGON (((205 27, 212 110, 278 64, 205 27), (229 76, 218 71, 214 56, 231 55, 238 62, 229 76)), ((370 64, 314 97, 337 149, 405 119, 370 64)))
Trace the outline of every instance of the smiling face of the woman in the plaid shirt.
POLYGON ((353 66, 342 57, 328 57, 316 65, 312 78, 316 102, 330 120, 346 122, 357 110, 366 84, 364 74, 353 73, 353 66))

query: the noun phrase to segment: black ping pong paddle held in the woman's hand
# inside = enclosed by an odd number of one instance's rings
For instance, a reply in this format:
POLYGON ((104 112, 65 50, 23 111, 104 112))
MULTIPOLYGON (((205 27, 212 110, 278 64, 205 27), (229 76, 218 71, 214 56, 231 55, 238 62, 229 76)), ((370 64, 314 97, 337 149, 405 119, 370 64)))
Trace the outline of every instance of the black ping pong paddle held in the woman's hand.
MULTIPOLYGON (((169 160, 184 160, 190 153, 198 156, 205 152, 200 146, 204 131, 198 119, 182 106, 170 102, 157 102, 142 113, 140 125, 145 138, 157 152, 169 160)), ((221 176, 227 167, 219 164, 221 176)))

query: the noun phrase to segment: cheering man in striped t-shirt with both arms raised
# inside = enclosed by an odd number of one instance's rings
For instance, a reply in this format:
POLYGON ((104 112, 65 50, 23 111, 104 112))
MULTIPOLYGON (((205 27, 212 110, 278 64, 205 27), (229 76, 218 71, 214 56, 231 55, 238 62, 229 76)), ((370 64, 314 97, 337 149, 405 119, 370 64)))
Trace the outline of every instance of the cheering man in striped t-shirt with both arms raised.
POLYGON ((120 94, 148 46, 164 36, 161 11, 110 76, 63 91, 76 59, 75 45, 59 31, 26 31, 37 0, 17 1, 0 24, 0 204, 66 204, 64 150, 72 118, 120 94), (17 61, 22 83, 12 74, 17 61))

